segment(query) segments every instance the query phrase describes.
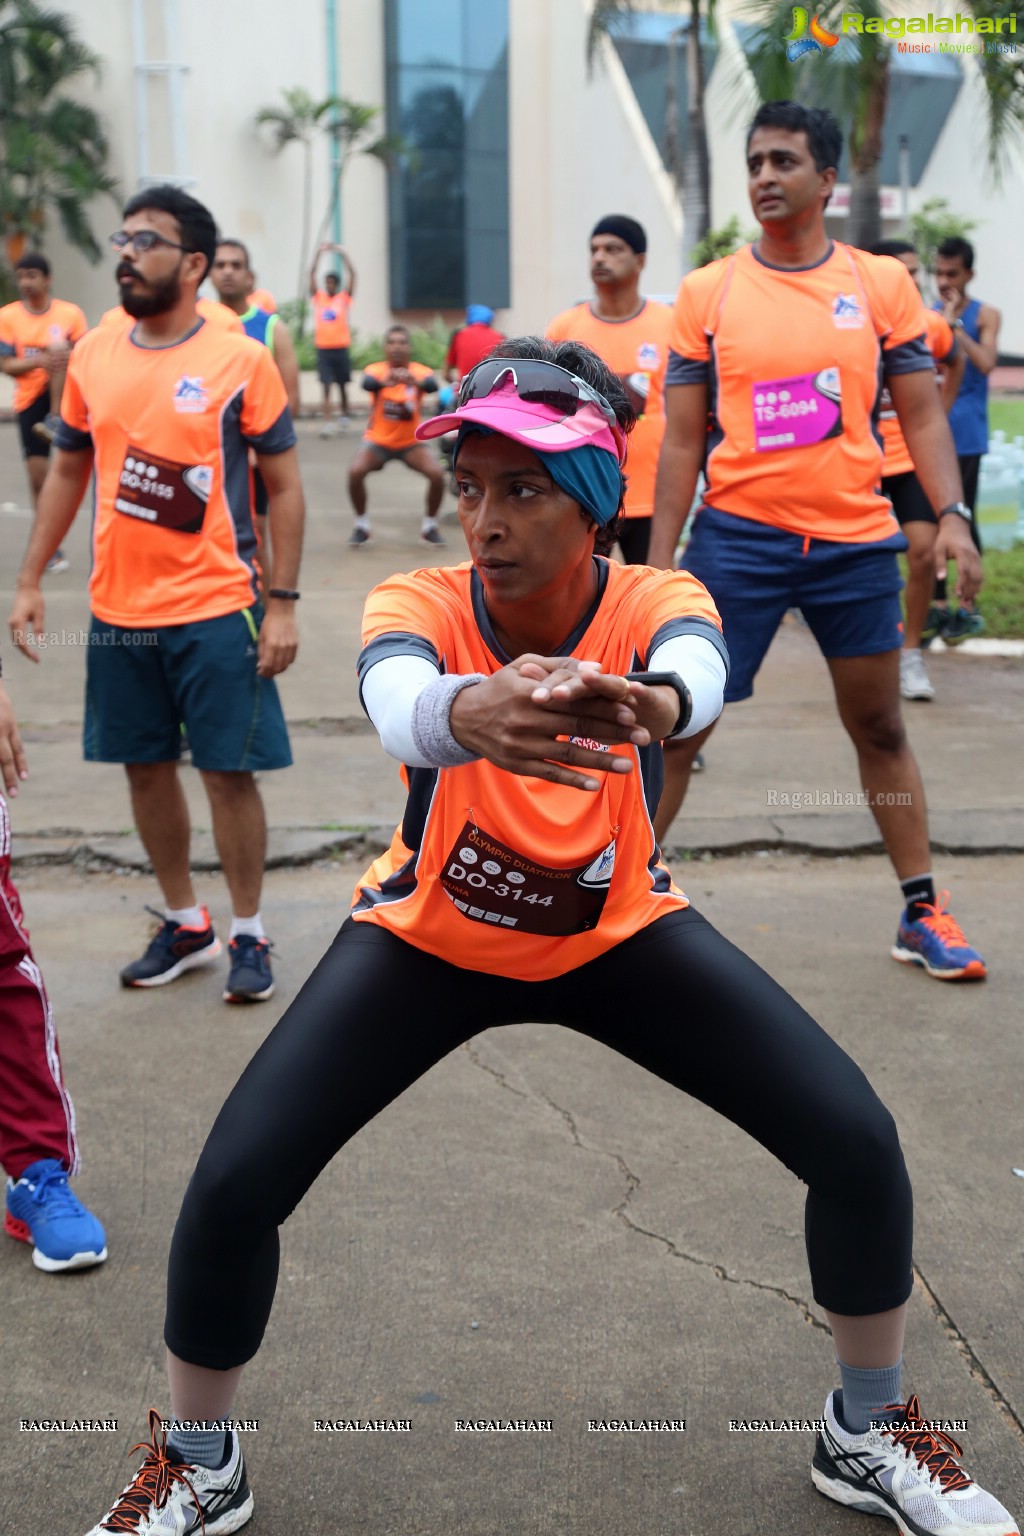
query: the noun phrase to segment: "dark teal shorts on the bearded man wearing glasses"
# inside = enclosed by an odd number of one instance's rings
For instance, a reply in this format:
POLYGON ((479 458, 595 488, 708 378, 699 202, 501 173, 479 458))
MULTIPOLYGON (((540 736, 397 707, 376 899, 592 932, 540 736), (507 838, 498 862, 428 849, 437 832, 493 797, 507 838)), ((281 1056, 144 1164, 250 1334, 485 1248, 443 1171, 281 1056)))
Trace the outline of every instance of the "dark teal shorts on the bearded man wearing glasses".
POLYGON ((157 630, 94 616, 86 659, 84 756, 100 763, 181 757, 213 773, 287 768, 289 731, 272 677, 256 676, 263 610, 157 630))

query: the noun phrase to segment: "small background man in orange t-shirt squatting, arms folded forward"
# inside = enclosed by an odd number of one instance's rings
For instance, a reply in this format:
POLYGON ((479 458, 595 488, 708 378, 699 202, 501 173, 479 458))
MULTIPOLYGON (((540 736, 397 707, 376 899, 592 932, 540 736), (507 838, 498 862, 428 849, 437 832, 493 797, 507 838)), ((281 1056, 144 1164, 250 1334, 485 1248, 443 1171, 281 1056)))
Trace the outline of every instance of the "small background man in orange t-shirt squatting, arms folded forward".
POLYGON ((362 387, 373 404, 362 447, 348 468, 348 499, 356 515, 348 544, 358 550, 370 542, 367 475, 382 470, 391 459, 401 459, 427 479, 427 504, 419 536, 424 544, 442 545, 438 510, 444 496, 444 470, 430 449, 416 442, 424 395, 438 393, 438 379, 425 364, 410 361, 405 326, 391 326, 387 330, 384 352, 385 361, 372 362, 362 375, 362 387))

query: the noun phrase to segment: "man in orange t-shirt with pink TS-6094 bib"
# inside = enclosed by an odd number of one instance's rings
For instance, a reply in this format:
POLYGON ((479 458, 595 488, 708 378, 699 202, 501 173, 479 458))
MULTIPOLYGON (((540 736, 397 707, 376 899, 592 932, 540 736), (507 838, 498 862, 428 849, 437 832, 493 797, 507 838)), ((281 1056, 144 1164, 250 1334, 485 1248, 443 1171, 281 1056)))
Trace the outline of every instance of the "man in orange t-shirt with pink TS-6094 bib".
MULTIPOLYGON (((676 300, 651 564, 672 564, 703 468, 685 565, 722 613, 726 702, 749 699, 778 624, 800 608, 900 880, 892 957, 936 980, 975 980, 984 962, 936 902, 924 788, 900 711, 897 553, 907 541, 881 493, 883 382, 940 522, 936 559, 956 564, 966 598, 981 585, 981 561, 921 296, 898 263, 826 232, 841 143, 824 109, 768 101, 754 117, 746 167, 761 233, 691 272, 676 300)), ((660 837, 700 745, 666 754, 660 837)))

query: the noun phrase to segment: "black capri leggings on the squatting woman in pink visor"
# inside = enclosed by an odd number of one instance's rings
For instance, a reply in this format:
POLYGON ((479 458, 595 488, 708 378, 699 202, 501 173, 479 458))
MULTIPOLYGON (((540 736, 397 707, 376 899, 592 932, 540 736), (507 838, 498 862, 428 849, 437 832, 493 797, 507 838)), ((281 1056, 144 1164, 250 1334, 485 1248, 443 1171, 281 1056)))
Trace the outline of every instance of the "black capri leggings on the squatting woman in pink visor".
POLYGON ((350 1137, 490 1025, 567 1025, 742 1126, 808 1184, 814 1296, 898 1307, 910 1181, 867 1078, 694 908, 551 982, 462 971, 348 919, 221 1109, 170 1244, 169 1349, 227 1370, 259 1349, 278 1227, 350 1137))

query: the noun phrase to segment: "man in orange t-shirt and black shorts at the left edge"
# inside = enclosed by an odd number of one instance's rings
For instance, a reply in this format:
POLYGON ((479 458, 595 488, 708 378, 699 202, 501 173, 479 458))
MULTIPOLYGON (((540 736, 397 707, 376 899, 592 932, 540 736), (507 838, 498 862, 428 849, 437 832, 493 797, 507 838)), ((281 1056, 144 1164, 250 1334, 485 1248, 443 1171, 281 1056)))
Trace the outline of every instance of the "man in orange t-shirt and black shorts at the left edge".
MULTIPOLYGON (((52 296, 51 267, 41 252, 26 252, 14 275, 21 296, 0 309, 0 373, 14 379, 14 410, 35 511, 60 421, 68 359, 88 324, 77 304, 52 296)), ((48 570, 68 570, 63 550, 54 551, 48 570)))

